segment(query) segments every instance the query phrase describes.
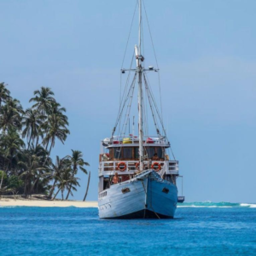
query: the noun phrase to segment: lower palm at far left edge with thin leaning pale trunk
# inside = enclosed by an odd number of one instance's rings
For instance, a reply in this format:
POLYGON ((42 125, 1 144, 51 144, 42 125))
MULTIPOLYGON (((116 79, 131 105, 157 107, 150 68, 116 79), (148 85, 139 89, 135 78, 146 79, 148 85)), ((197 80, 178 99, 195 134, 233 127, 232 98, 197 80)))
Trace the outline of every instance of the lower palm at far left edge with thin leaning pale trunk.
MULTIPOLYGON (((10 128, 7 134, 0 137, 0 148, 3 154, 5 171, 7 172, 17 161, 21 149, 25 146, 24 142, 20 139, 19 134, 14 128, 10 128)), ((3 175, 1 177, 0 189, 3 184, 3 175)))

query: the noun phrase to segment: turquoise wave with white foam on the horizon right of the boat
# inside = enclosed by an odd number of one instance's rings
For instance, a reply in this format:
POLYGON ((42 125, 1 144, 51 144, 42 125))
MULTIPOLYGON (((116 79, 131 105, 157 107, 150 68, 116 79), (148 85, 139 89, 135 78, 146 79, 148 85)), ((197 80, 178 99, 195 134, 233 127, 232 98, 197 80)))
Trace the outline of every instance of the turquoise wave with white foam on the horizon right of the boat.
POLYGON ((202 202, 183 202, 177 204, 178 208, 182 207, 197 207, 197 208, 256 208, 255 203, 231 203, 231 202, 212 202, 212 201, 202 201, 202 202))

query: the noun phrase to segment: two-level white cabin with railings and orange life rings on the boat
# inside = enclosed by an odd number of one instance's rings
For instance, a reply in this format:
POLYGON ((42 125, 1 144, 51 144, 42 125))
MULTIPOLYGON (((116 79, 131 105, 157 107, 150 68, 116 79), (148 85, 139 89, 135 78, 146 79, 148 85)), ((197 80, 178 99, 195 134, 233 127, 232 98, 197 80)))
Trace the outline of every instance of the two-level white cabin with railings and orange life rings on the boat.
MULTIPOLYGON (((162 178, 176 184, 178 161, 170 160, 167 154, 170 143, 166 137, 143 137, 143 148, 143 170, 154 169, 162 178)), ((139 172, 138 138, 130 135, 104 139, 101 143, 98 172, 100 192, 113 185, 114 175, 118 176, 118 183, 129 182, 139 172)), ((114 182, 117 183, 116 178, 114 182)))

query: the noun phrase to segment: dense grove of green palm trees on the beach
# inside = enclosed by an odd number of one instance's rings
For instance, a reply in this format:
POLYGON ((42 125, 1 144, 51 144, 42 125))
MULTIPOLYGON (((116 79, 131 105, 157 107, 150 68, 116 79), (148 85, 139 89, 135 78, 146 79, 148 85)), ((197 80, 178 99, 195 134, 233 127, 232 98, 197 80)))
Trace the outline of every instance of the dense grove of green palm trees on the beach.
POLYGON ((55 142, 64 144, 69 134, 66 108, 54 96, 48 87, 35 90, 32 107, 24 110, 0 83, 0 195, 55 199, 61 191, 63 200, 66 190, 67 200, 79 186, 79 170, 87 174, 89 164, 79 150, 55 162, 50 157, 55 142))

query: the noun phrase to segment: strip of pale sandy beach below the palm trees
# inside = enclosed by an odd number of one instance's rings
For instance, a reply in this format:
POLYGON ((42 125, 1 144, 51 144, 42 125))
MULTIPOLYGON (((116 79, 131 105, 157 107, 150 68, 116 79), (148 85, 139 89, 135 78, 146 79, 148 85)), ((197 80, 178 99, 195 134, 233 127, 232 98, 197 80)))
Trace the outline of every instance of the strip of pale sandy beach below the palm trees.
POLYGON ((97 201, 47 201, 0 199, 0 207, 98 207, 97 201))

